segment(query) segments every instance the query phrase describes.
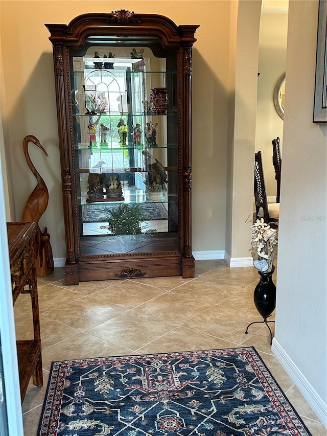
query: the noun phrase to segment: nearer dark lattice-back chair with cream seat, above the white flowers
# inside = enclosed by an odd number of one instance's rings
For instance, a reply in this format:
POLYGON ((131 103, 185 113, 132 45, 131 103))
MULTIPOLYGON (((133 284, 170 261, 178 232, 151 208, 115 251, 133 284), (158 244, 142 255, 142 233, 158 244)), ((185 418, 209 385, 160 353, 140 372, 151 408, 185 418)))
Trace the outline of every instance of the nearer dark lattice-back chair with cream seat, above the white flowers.
POLYGON ((279 220, 279 203, 269 203, 262 167, 261 151, 254 157, 254 202, 256 219, 263 218, 266 223, 279 220))

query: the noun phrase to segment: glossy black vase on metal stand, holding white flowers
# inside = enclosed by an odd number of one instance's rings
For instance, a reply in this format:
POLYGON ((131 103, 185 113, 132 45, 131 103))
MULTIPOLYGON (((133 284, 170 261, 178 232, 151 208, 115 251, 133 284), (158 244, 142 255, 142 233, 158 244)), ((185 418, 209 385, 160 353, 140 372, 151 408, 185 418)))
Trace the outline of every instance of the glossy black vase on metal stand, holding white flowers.
POLYGON ((254 289, 254 304, 264 319, 267 319, 276 307, 276 286, 271 278, 274 270, 273 266, 269 272, 258 271, 261 276, 260 282, 254 289))

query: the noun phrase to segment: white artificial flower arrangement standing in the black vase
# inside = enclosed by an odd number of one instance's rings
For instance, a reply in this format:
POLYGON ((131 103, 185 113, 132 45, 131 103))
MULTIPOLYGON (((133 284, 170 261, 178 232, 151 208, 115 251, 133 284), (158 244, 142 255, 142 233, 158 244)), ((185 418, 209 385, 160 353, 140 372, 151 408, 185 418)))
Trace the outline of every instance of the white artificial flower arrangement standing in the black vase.
POLYGON ((251 228, 253 265, 261 272, 270 272, 273 269, 273 261, 277 249, 278 224, 274 228, 265 223, 264 219, 261 218, 261 220, 257 219, 251 228))

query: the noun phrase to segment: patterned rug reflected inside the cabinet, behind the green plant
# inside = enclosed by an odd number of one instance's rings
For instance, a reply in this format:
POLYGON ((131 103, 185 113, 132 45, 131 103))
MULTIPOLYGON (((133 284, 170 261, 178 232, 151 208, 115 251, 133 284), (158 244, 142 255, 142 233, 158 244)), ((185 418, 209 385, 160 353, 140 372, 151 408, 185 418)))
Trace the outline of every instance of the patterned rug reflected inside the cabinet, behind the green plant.
MULTIPOLYGON (((168 219, 168 212, 161 203, 138 203, 146 221, 168 219)), ((83 222, 105 222, 108 211, 118 208, 119 204, 88 204, 82 206, 83 222)))

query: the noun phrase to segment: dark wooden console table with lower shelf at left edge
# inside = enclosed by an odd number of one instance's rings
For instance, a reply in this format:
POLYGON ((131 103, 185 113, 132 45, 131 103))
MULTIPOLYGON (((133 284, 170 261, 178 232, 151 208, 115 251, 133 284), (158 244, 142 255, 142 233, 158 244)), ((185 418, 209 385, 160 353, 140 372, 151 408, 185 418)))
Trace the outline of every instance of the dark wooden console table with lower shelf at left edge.
POLYGON ((21 402, 33 376, 36 386, 43 385, 39 306, 37 295, 34 222, 8 222, 8 243, 13 304, 20 294, 30 294, 34 339, 17 340, 21 402))

